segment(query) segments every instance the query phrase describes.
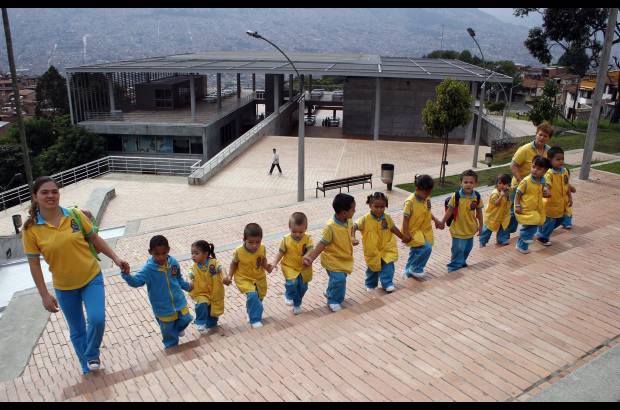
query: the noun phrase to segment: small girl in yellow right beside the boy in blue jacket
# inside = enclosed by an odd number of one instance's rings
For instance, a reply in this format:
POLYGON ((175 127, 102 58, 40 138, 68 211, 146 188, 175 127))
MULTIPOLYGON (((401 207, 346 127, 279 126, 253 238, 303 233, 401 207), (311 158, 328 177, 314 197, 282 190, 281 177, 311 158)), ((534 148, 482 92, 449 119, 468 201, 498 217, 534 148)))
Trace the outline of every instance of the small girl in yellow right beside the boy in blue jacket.
POLYGON ((217 326, 224 313, 224 282, 226 271, 215 258, 215 246, 204 240, 192 244, 194 265, 189 274, 192 291, 189 296, 196 303, 194 324, 199 332, 217 326))

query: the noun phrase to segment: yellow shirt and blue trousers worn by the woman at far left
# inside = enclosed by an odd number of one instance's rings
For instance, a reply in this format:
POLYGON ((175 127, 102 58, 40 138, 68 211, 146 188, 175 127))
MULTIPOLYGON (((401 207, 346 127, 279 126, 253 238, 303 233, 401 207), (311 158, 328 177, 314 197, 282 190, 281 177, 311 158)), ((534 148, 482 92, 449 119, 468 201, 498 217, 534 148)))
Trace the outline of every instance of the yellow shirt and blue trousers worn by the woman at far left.
MULTIPOLYGON (((82 371, 88 373, 88 361, 99 359, 99 347, 105 329, 105 291, 99 263, 93 256, 69 210, 60 207, 59 225, 52 226, 37 212, 34 225, 23 231, 22 242, 28 259, 40 255, 49 265, 52 285, 67 325, 71 343, 82 371), (86 320, 83 307, 86 308, 86 320)), ((94 233, 93 225, 76 210, 86 232, 94 233)))

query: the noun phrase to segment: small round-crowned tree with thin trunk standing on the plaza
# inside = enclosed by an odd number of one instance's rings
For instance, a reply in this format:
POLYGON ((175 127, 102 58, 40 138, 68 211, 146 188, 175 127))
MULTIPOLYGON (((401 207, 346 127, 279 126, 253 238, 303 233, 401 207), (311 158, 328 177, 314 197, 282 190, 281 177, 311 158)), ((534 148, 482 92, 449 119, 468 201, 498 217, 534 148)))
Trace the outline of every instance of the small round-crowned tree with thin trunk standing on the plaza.
POLYGON ((448 136, 456 127, 471 121, 473 97, 469 87, 462 81, 446 78, 435 88, 437 98, 429 100, 422 110, 424 130, 434 137, 444 138, 439 178, 445 184, 448 157, 448 136))

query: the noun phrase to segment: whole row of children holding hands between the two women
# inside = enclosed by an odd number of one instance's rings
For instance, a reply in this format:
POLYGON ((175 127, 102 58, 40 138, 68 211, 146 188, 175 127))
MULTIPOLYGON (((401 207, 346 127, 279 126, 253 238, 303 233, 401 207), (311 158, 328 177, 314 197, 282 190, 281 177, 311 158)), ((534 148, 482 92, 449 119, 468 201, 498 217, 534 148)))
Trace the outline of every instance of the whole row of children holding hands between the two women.
POLYGON ((433 178, 418 175, 415 192, 405 200, 402 229, 385 212, 388 199, 383 193, 368 196, 369 212, 355 222, 351 220, 355 214, 355 198, 339 193, 332 203, 334 215, 327 221, 316 246, 306 233, 306 215, 294 212, 288 223, 290 234, 282 238, 272 263, 267 260, 265 245, 261 243, 261 227, 250 223, 243 231, 243 244, 233 253, 228 273, 216 259, 214 245, 199 240, 191 245, 194 264, 189 274, 190 282, 185 281, 179 263, 169 255, 168 241, 157 235, 150 241, 151 257, 146 265, 137 274, 123 273, 122 277, 132 287, 147 285, 163 343, 168 348, 178 344, 179 337, 193 320, 183 291, 188 292, 194 301, 194 323, 199 331, 204 332, 217 326, 224 311, 224 287, 234 280, 239 291, 246 296, 250 325, 261 327, 262 301, 268 287, 266 272, 271 273, 278 264, 281 265, 285 279, 284 301, 293 306, 293 313, 297 315, 302 312, 303 297, 312 280, 312 263, 319 255, 328 274, 328 286, 323 294, 329 308, 333 312, 339 311, 346 294, 347 277, 353 271, 353 246, 359 243, 357 231, 362 233, 367 291, 376 289, 379 283, 388 293, 395 290, 394 262, 398 259, 395 237, 410 248, 403 278, 425 278, 424 269, 433 246, 431 221, 437 229, 444 229, 446 225, 450 227, 452 248, 448 272, 467 266, 474 236, 479 236, 481 247, 487 245, 493 233, 498 245, 508 245, 510 233, 516 231, 517 223, 522 227, 516 248, 521 253, 529 253, 528 245, 534 240, 550 245, 549 238, 555 228, 571 226, 571 193, 575 190, 569 184, 570 174, 563 166, 564 152, 560 147, 546 145, 552 132, 546 126, 539 127, 537 138, 540 133, 548 134, 546 140, 544 135, 541 137, 548 158, 533 155, 528 175, 521 177, 515 172, 519 178, 512 181, 508 174, 497 176, 484 214, 480 193, 475 190, 478 176, 473 170, 462 173, 461 188, 446 200, 442 219, 431 212, 433 178))

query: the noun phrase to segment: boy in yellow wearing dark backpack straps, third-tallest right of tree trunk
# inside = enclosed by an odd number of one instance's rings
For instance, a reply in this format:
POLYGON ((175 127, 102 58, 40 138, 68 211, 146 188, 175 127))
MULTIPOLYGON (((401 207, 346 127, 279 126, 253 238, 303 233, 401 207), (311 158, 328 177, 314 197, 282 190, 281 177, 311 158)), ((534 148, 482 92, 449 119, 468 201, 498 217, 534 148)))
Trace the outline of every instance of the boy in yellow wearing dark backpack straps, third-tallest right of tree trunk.
POLYGON ((452 235, 452 257, 448 264, 448 272, 467 267, 467 257, 474 246, 474 235, 482 234, 484 204, 480 194, 474 190, 478 183, 478 175, 471 169, 461 174, 461 189, 453 193, 448 202, 448 209, 442 223, 450 217, 450 235, 452 235))

